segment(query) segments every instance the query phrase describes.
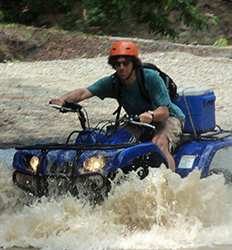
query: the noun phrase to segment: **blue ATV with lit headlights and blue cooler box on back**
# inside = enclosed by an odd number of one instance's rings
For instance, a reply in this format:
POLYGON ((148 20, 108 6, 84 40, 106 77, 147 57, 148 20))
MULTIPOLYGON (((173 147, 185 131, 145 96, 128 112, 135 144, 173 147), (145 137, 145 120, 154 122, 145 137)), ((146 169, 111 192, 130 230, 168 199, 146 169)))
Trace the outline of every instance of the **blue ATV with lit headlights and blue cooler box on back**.
MULTIPOLYGON (((211 91, 182 94, 176 104, 186 114, 181 144, 173 152, 176 173, 187 176, 194 169, 202 177, 223 173, 232 181, 229 166, 220 167, 218 156, 232 152, 230 131, 215 125, 215 96, 211 91), (197 112, 197 113, 196 113, 197 112)), ((71 193, 99 202, 107 197, 112 181, 119 172, 135 171, 144 179, 150 168, 168 167, 158 146, 136 140, 128 127, 155 127, 140 122, 137 117, 123 116, 115 122, 104 121, 95 128, 89 126, 85 109, 74 103, 53 105, 60 112, 76 112, 82 127, 73 131, 64 144, 43 144, 18 147, 13 159, 13 182, 36 196, 49 195, 52 187, 59 193, 71 193), (74 140, 74 143, 71 141, 74 140)))

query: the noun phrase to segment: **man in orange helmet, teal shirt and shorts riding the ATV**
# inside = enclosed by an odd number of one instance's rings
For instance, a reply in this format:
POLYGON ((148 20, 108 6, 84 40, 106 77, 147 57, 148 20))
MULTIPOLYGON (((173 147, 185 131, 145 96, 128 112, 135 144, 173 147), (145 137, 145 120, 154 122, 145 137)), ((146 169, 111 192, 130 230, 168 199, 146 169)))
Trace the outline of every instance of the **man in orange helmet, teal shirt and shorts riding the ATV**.
POLYGON ((106 76, 87 88, 79 88, 52 99, 49 103, 62 106, 65 102, 80 102, 93 96, 117 99, 128 115, 138 115, 141 122, 156 125, 157 131, 153 134, 148 135, 146 131, 138 131, 138 128, 132 128, 132 131, 140 140, 151 140, 158 145, 167 159, 169 168, 175 171, 175 161, 170 151, 180 140, 185 116, 171 101, 159 73, 142 69, 138 55, 135 43, 124 40, 113 42, 108 63, 115 70, 115 74, 106 76), (141 69, 149 100, 141 93, 138 75, 141 69))

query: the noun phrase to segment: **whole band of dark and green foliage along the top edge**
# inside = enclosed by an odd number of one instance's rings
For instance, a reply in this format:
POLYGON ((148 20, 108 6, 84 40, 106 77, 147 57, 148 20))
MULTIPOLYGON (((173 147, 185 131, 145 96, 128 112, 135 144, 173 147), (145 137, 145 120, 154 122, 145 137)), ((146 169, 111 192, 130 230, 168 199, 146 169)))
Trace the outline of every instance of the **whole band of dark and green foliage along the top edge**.
POLYGON ((11 0, 3 1, 0 10, 6 21, 35 24, 43 14, 62 13, 60 25, 73 29, 98 27, 105 33, 136 29, 145 24, 154 34, 175 37, 176 24, 195 30, 207 26, 208 18, 200 13, 194 0, 11 0), (78 12, 75 11, 78 6, 78 12))

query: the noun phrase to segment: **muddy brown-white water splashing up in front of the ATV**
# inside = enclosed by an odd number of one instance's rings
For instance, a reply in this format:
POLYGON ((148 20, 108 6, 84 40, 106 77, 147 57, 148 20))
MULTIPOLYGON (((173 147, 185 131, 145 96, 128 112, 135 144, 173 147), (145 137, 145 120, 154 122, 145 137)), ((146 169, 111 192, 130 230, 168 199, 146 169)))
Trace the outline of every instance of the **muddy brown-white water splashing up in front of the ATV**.
POLYGON ((232 188, 224 178, 181 179, 165 168, 114 186, 95 208, 66 195, 28 205, 0 163, 0 246, 41 249, 177 249, 232 244, 232 188))

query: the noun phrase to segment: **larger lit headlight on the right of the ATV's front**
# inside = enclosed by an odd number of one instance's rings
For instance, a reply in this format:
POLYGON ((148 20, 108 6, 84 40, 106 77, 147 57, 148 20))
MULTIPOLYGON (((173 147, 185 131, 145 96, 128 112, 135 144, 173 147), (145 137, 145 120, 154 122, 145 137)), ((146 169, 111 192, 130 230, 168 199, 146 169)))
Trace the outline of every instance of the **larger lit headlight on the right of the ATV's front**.
POLYGON ((97 155, 86 159, 83 163, 84 170, 89 172, 97 172, 104 168, 106 159, 102 155, 97 155))

